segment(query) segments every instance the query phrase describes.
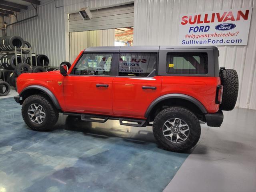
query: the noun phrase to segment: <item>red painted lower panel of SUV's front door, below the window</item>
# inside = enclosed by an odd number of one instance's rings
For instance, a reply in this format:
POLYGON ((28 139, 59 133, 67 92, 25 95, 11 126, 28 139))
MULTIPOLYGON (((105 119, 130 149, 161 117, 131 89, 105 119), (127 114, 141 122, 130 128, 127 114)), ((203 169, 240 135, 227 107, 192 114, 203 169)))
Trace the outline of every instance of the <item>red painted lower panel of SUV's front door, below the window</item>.
POLYGON ((74 76, 64 78, 65 111, 113 114, 112 83, 114 77, 74 76), (96 87, 106 84, 108 87, 96 87))

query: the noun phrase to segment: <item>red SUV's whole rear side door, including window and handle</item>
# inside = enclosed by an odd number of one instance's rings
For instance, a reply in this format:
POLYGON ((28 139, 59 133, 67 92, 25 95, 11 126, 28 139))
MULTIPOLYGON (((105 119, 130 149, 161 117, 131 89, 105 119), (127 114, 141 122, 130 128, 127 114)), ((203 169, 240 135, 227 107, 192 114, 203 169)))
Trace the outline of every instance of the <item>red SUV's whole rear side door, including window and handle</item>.
POLYGON ((161 93, 157 64, 157 52, 120 52, 118 76, 113 81, 114 115, 144 118, 148 106, 161 93))

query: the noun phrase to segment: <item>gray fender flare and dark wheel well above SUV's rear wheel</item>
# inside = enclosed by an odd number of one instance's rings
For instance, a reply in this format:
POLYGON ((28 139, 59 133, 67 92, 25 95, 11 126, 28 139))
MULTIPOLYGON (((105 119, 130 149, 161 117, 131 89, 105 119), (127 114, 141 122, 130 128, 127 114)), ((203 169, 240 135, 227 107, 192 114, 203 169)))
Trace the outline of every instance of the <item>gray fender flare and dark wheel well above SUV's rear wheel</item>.
POLYGON ((204 118, 204 114, 208 113, 204 105, 192 96, 185 94, 166 94, 156 98, 150 104, 146 110, 145 118, 149 118, 151 122, 152 118, 154 119, 156 116, 154 112, 159 110, 159 108, 164 108, 164 106, 184 106, 193 112, 202 114, 202 118, 204 118))

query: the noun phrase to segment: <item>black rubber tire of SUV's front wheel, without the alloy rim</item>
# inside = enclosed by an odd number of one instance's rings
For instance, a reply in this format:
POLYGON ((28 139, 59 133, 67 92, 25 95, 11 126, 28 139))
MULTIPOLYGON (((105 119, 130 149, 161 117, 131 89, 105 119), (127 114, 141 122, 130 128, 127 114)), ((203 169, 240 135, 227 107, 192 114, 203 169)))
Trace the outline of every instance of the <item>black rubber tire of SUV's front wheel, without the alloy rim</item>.
POLYGON ((36 131, 50 130, 52 126, 56 124, 59 118, 58 110, 52 104, 50 99, 47 98, 47 96, 45 96, 44 94, 35 94, 26 98, 22 104, 21 112, 22 112, 22 117, 25 123, 32 130, 36 130, 36 131), (28 108, 33 103, 40 104, 46 112, 46 118, 41 124, 36 124, 32 122, 32 120, 30 120, 30 117, 28 116, 28 108))

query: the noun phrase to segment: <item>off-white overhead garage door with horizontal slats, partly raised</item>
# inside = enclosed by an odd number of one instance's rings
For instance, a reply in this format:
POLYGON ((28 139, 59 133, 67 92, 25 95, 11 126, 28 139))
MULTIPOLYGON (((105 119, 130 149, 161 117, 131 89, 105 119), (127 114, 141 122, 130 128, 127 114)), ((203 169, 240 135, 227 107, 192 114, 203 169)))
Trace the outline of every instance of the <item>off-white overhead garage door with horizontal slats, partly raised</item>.
POLYGON ((92 10, 92 19, 83 20, 79 13, 70 14, 69 32, 112 29, 133 26, 133 4, 92 10))

